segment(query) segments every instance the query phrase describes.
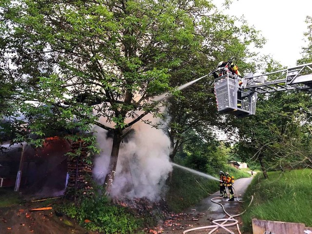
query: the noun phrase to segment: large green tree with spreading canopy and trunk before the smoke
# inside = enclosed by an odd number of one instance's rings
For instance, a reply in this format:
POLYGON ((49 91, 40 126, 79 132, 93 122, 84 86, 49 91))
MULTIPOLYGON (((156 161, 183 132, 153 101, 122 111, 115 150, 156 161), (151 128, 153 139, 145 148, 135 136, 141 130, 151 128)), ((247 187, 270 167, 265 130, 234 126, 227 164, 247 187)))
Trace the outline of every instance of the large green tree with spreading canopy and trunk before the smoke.
MULTIPOLYGON (((232 43, 236 36, 246 44, 257 40, 256 31, 234 27, 205 0, 2 0, 0 21, 1 72, 18 85, 10 97, 19 98, 1 115, 18 111, 25 116, 18 126, 27 125, 16 140, 32 134, 40 145, 49 128, 83 134, 96 124, 111 131, 108 192, 128 129, 148 113, 157 116, 160 105, 152 97, 179 95, 177 81, 171 82, 174 71, 192 61, 206 65, 229 47, 242 46, 232 43)), ((181 76, 193 78, 205 69, 181 76)))

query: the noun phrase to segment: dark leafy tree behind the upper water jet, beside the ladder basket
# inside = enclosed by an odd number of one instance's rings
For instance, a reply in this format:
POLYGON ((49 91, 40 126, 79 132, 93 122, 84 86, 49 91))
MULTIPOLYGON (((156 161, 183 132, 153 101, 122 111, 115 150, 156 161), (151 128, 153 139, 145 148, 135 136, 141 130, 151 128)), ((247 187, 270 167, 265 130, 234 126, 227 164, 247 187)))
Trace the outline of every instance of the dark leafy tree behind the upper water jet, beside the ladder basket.
MULTIPOLYGON (((248 45, 253 42, 255 46, 261 47, 265 40, 253 27, 249 27, 245 21, 240 27, 236 21, 229 17, 222 17, 222 24, 219 18, 212 18, 214 23, 207 24, 209 35, 202 45, 201 56, 190 57, 181 64, 178 64, 171 74, 171 84, 179 86, 187 83, 190 78, 197 79, 215 70, 216 64, 221 60, 229 60, 234 57, 239 70, 243 74, 245 70, 254 70, 256 54, 250 51, 248 45), (221 26, 221 27, 220 27, 221 26), (219 31, 215 33, 215 28, 219 31), (207 57, 209 59, 207 59, 207 57)), ((202 36, 207 37, 205 31, 202 36)), ((234 132, 231 126, 233 118, 227 118, 217 112, 214 94, 214 79, 212 75, 204 77, 182 90, 181 96, 171 98, 166 105, 166 113, 169 116, 168 136, 171 139, 172 152, 170 158, 174 161, 175 155, 181 145, 189 140, 188 131, 196 131, 199 135, 210 135, 215 138, 216 130, 225 131, 228 134, 234 132)))

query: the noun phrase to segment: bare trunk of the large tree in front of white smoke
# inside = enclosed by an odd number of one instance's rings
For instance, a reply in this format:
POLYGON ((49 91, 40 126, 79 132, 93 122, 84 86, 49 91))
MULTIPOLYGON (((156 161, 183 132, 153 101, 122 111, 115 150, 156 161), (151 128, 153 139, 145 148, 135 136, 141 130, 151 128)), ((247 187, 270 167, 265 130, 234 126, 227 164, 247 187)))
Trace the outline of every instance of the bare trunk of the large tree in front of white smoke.
POLYGON ((110 157, 108 172, 105 177, 105 195, 109 195, 111 193, 113 181, 115 179, 116 174, 116 167, 117 167, 117 160, 118 160, 118 153, 119 148, 122 140, 122 132, 116 130, 114 131, 114 139, 113 139, 113 147, 112 147, 112 153, 110 157))

